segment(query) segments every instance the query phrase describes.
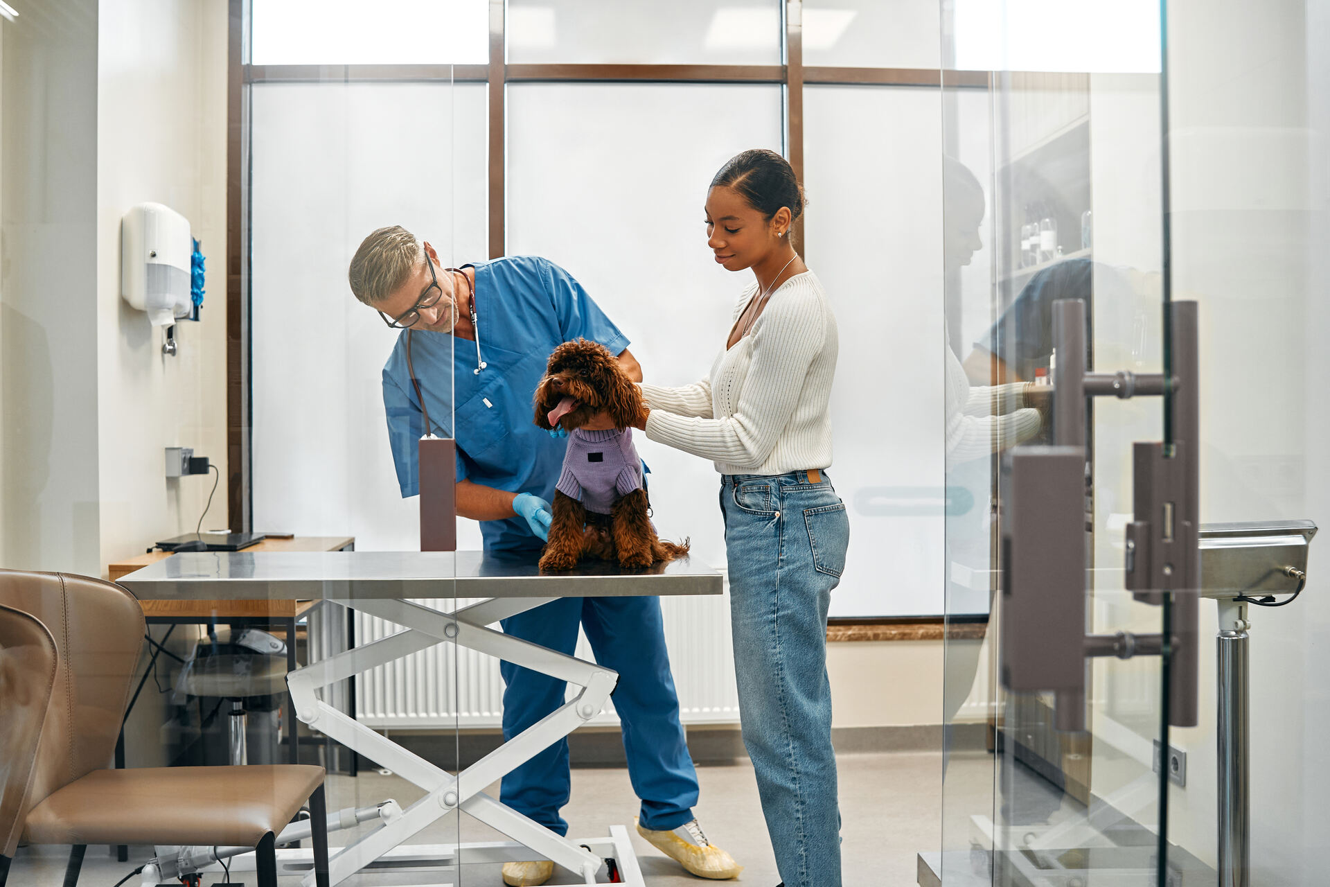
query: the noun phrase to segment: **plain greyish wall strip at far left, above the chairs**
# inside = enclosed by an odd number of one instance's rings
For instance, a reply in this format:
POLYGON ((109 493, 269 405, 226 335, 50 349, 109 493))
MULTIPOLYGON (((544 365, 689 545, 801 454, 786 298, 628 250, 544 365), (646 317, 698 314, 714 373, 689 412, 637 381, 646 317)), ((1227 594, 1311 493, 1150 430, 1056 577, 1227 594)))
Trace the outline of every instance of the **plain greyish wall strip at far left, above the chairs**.
POLYGON ((97 4, 0 32, 0 565, 98 574, 97 4))

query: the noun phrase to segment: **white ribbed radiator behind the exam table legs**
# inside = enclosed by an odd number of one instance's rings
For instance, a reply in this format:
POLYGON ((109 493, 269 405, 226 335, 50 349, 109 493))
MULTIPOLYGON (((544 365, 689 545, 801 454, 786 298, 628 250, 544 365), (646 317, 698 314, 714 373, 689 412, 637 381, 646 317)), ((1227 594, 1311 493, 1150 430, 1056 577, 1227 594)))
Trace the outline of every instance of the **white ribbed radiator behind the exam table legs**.
MULTIPOLYGON (((452 600, 419 600, 423 606, 451 610, 452 600)), ((458 606, 475 602, 459 598, 458 606)), ((346 626, 339 606, 321 608, 310 620, 311 658, 343 649, 346 626)), ((738 692, 730 646, 730 605, 721 594, 662 597, 665 644, 684 723, 738 723, 738 692)), ((355 638, 368 644, 395 634, 400 626, 355 613, 355 638)), ((591 645, 579 633, 579 658, 591 660, 591 645)), ((343 707, 340 688, 330 703, 343 707)), ((577 688, 569 688, 569 697, 577 688)), ((475 650, 440 644, 379 666, 356 678, 356 719, 383 729, 499 727, 503 680, 499 661, 475 650)), ((613 701, 591 721, 617 725, 613 701)))

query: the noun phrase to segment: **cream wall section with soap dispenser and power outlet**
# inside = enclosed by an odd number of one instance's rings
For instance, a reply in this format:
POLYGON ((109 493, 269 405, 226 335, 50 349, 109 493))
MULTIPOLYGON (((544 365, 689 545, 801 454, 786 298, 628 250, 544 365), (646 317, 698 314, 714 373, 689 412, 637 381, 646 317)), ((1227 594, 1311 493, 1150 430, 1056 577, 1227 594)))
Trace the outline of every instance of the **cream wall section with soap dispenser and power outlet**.
POLYGON ((165 447, 221 472, 203 528, 227 525, 226 0, 102 0, 97 57, 97 374, 105 564, 193 531, 217 475, 168 480, 165 447), (120 219, 165 203, 207 259, 202 319, 162 330, 120 297, 120 219))

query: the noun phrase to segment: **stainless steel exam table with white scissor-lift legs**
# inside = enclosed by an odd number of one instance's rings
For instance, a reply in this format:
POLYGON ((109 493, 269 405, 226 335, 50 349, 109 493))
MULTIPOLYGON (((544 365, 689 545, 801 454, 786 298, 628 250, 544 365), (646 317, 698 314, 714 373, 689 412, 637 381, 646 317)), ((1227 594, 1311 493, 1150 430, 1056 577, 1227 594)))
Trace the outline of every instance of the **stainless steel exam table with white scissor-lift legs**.
MULTIPOLYGON (((331 856, 332 884, 350 875, 382 871, 392 883, 412 872, 440 883, 459 878, 459 863, 545 858, 584 883, 614 860, 616 883, 642 887, 628 830, 608 836, 563 838, 484 794, 504 774, 531 759, 604 707, 618 674, 489 628, 499 620, 560 597, 720 594, 721 574, 689 559, 624 570, 591 564, 571 573, 541 574, 535 556, 480 552, 182 552, 121 580, 140 600, 315 600, 376 616, 404 632, 356 646, 287 676, 297 717, 347 747, 420 786, 427 794, 391 821, 331 856), (452 613, 412 598, 483 598, 452 613), (583 688, 555 713, 504 742, 456 775, 412 754, 323 702, 315 690, 436 644, 455 644, 549 674, 583 688), (464 811, 512 838, 480 844, 403 846, 430 823, 464 811)), ((279 871, 306 872, 309 850, 279 852, 279 871)))

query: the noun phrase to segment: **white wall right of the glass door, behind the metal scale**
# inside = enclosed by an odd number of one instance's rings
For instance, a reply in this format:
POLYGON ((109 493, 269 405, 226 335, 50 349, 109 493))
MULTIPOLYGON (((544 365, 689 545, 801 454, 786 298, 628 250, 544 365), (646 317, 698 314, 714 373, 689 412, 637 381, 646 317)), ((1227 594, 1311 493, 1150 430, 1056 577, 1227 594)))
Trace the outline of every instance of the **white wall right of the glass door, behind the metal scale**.
POLYGON ((1281 545, 1260 576, 1209 545, 1216 524, 1297 537, 1311 528, 1294 521, 1330 521, 1330 4, 1169 3, 1168 35, 1173 293, 1201 319, 1208 537, 1198 725, 1173 737, 1194 778, 1170 789, 1169 836, 1225 887, 1318 884, 1326 543, 1281 545), (1299 560, 1305 577, 1285 574, 1299 560))

